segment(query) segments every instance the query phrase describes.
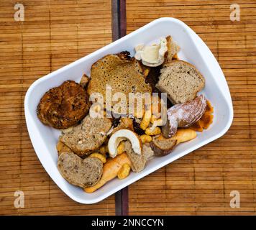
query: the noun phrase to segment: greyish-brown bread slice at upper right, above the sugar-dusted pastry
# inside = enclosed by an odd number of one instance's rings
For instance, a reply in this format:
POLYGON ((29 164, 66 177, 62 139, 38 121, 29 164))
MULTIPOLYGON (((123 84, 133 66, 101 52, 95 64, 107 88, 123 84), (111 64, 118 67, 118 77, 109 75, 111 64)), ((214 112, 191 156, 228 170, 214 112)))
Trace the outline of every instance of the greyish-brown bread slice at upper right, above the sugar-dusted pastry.
POLYGON ((204 77, 190 63, 173 60, 163 65, 156 87, 167 93, 173 103, 184 103, 196 97, 196 93, 204 88, 204 77))

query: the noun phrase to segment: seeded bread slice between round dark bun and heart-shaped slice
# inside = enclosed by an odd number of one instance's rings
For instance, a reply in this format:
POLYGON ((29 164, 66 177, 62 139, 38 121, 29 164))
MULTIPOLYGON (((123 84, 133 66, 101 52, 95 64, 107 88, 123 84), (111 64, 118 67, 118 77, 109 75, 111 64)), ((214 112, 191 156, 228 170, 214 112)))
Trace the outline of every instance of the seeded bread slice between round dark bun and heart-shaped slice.
POLYGON ((111 119, 92 118, 88 115, 81 124, 74 126, 70 132, 62 134, 60 142, 66 144, 78 156, 86 157, 104 143, 111 126, 111 119))

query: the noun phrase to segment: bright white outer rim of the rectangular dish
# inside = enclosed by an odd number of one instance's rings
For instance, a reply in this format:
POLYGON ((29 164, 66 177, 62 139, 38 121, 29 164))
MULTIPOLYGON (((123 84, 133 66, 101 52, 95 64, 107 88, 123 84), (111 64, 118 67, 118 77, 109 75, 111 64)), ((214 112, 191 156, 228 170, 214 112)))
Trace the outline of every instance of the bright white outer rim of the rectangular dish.
MULTIPOLYGON (((37 80, 35 80, 34 83, 32 83, 31 86, 29 86, 29 89, 27 90, 26 96, 24 98, 24 112, 25 112, 25 119, 26 119, 26 124, 27 124, 27 129, 29 132, 29 137, 31 139, 32 145, 35 149, 35 152, 37 154, 37 146, 35 143, 35 136, 38 136, 38 130, 36 130, 37 132, 35 132, 35 121, 32 119, 32 115, 29 113, 29 97, 31 96, 32 91, 34 90, 35 87, 37 87, 42 81, 48 80, 52 77, 52 75, 55 74, 59 74, 59 73, 63 73, 65 70, 67 70, 68 68, 72 67, 73 65, 77 65, 78 63, 83 62, 84 60, 90 59, 91 57, 93 57, 94 55, 98 55, 101 52, 104 52, 105 50, 108 50, 111 47, 115 47, 116 45, 118 45, 120 42, 123 42, 125 40, 129 40, 130 37, 132 37, 133 35, 142 32, 142 30, 147 29, 148 27, 151 27, 154 24, 160 23, 160 22, 175 22, 177 24, 180 24, 181 27, 183 27, 183 29, 186 29, 188 31, 188 36, 190 37, 190 39, 192 40, 192 42, 194 43, 196 49, 198 50, 198 45, 196 44, 196 42, 194 41, 194 39, 200 39, 200 37, 198 37, 198 35, 196 35, 195 32, 193 32, 193 30, 188 27, 188 25, 186 25, 184 22, 181 22, 179 19, 175 19, 175 18, 169 18, 169 17, 162 17, 160 19, 155 19, 154 21, 146 24, 143 27, 140 27, 139 29, 135 30, 134 32, 131 32, 129 35, 126 35, 122 38, 120 38, 119 40, 116 40, 115 42, 111 42, 109 45, 106 45, 104 47, 102 47, 99 50, 96 50, 94 52, 92 52, 89 55, 86 55, 85 57, 81 57, 80 59, 74 61, 73 63, 70 63, 68 65, 65 65, 63 68, 60 68, 58 70, 53 71, 52 73, 49 73, 45 76, 43 76, 42 78, 39 78, 37 80), (32 135, 33 133, 33 135, 32 135)), ((225 80, 224 77, 224 73, 222 72, 219 63, 217 62, 217 60, 215 59, 214 55, 212 54, 211 50, 209 50, 209 48, 206 46, 206 44, 203 42, 203 40, 201 40, 201 48, 206 49, 206 51, 208 52, 207 55, 211 56, 211 62, 214 63, 214 67, 217 68, 217 70, 219 71, 219 77, 221 81, 221 87, 219 86, 219 90, 221 91, 221 93, 223 93, 223 96, 225 98, 225 100, 227 101, 227 106, 229 109, 229 120, 226 124, 226 126, 224 126, 224 128, 221 130, 221 132, 219 132, 218 134, 214 135, 213 137, 209 137, 208 139, 204 140, 203 142, 200 142, 198 144, 196 144, 193 147, 190 147, 189 149, 186 149, 185 151, 183 151, 182 156, 187 155, 190 152, 193 152, 195 149, 198 149, 202 146, 204 146, 205 144, 208 144, 209 142, 214 141, 215 139, 218 139, 219 137, 223 136, 227 130, 229 129, 229 127, 232 124, 233 121, 233 106, 232 106, 232 99, 229 93, 229 88, 227 85, 227 81, 225 80)), ((198 53, 200 53, 200 55, 202 55, 203 52, 200 52, 200 50, 198 50, 198 53)), ((203 58, 204 60, 204 58, 203 58)), ((205 60, 204 60, 205 62, 205 60)), ((206 65, 206 63, 204 63, 206 65)), ((106 193, 104 193, 103 195, 99 195, 99 197, 97 198, 90 198, 90 199, 85 199, 85 198, 79 198, 76 195, 73 195, 73 193, 70 192, 70 190, 68 190, 67 188, 63 188, 62 185, 60 185, 58 180, 55 180, 55 178, 53 178, 53 175, 51 175, 50 168, 47 167, 47 164, 45 164, 45 162, 43 162, 42 159, 40 159, 41 157, 37 154, 37 157, 39 158, 42 166, 45 168, 46 172, 48 173, 48 175, 50 176, 50 178, 52 178, 52 180, 58 185, 58 187, 63 190, 63 192, 68 195, 70 198, 72 198, 74 201, 77 201, 78 203, 84 203, 84 204, 90 204, 90 203, 97 203, 99 201, 104 200, 105 198, 109 197, 109 195, 112 195, 114 193, 116 193, 118 190, 121 190, 122 188, 126 187, 127 185, 130 185, 132 183, 134 183, 137 180, 140 180, 141 178, 144 178, 146 175, 149 175, 152 172, 155 172, 155 170, 160 169, 161 167, 170 164, 170 162, 173 162, 174 160, 177 160, 178 158, 182 157, 182 156, 175 156, 172 158, 168 158, 166 160, 164 160, 163 162, 160 162, 159 164, 150 167, 147 170, 143 170, 142 172, 140 172, 140 174, 137 175, 137 178, 131 178, 130 180, 124 181, 124 183, 122 183, 121 185, 116 186, 114 189, 110 190, 110 191, 106 191, 106 193)))

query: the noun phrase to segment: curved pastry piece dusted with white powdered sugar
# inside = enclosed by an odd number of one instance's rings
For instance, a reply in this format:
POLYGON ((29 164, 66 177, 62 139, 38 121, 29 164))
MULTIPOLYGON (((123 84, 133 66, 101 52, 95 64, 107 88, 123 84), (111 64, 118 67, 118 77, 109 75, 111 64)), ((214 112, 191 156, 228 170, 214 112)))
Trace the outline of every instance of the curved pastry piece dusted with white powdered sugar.
POLYGON ((178 127, 186 128, 201 119, 204 111, 206 111, 206 98, 204 95, 196 97, 193 101, 179 103, 170 107, 167 111, 167 121, 162 126, 163 136, 172 137, 178 127))

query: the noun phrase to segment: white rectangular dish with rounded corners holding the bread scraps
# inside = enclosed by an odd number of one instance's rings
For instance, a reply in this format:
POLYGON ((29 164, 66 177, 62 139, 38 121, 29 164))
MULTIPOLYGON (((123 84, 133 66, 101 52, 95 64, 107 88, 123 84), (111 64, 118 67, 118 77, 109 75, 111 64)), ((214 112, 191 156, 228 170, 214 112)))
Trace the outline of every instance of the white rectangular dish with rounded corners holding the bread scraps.
POLYGON ((24 109, 29 137, 40 162, 48 172, 52 180, 70 198, 79 203, 96 203, 102 201, 116 191, 134 183, 155 170, 168 165, 170 162, 192 152, 199 147, 221 137, 232 124, 233 108, 227 82, 214 55, 198 35, 186 24, 178 19, 160 18, 144 27, 137 29, 131 34, 122 37, 116 42, 83 57, 74 63, 66 65, 55 72, 35 81, 27 91, 24 100, 24 109), (159 37, 171 35, 180 45, 178 57, 186 60, 198 68, 206 78, 204 93, 214 106, 214 122, 204 133, 198 133, 198 137, 175 147, 174 151, 165 157, 155 157, 151 160, 145 170, 140 173, 132 172, 124 180, 114 179, 97 190, 95 193, 85 193, 81 188, 70 185, 58 172, 58 155, 55 144, 58 142, 60 132, 45 126, 37 119, 37 104, 43 94, 52 87, 59 86, 64 80, 81 79, 83 73, 90 75, 91 65, 111 53, 128 50, 134 55, 134 46, 140 43, 150 43, 159 37))

